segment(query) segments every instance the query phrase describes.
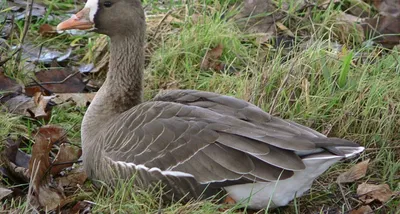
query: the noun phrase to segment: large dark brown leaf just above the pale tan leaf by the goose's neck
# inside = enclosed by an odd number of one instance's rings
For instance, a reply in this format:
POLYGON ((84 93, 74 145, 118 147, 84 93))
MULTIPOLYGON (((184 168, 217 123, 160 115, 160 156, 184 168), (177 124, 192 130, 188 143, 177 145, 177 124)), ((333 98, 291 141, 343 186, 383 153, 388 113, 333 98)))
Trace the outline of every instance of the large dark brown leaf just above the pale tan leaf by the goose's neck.
POLYGON ((37 72, 36 79, 41 84, 32 84, 25 87, 26 94, 32 96, 37 91, 46 88, 53 93, 79 93, 85 89, 82 75, 79 72, 72 72, 68 69, 45 70, 37 72))

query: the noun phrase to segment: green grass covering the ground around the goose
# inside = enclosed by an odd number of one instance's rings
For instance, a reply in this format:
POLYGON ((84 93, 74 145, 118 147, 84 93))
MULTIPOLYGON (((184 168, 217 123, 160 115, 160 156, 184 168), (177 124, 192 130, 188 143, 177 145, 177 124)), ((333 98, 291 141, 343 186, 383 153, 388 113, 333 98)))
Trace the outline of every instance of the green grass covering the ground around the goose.
MULTIPOLYGON (((289 206, 273 213, 324 213, 346 209, 344 199, 335 184, 336 177, 359 159, 371 159, 367 177, 363 181, 386 183, 399 191, 400 169, 400 52, 386 50, 361 42, 357 28, 337 21, 343 5, 330 4, 326 10, 311 8, 305 12, 291 9, 280 20, 295 35, 292 47, 271 43, 260 45, 255 35, 244 34, 230 18, 237 13, 230 5, 237 1, 200 1, 202 4, 174 3, 160 7, 153 1, 151 14, 171 15, 179 23, 148 26, 148 62, 146 67, 146 98, 160 88, 173 84, 182 89, 198 89, 232 95, 252 102, 273 115, 294 120, 332 137, 354 140, 367 148, 358 159, 331 167, 309 193, 289 206), (192 19, 192 14, 200 18, 192 19), (187 16, 186 16, 187 15, 187 16), (344 27, 343 27, 344 26, 344 27), (155 31, 158 34, 155 36, 155 31), (221 61, 231 70, 202 71, 200 63, 210 48, 224 46, 221 61), (338 46, 338 44, 343 44, 338 46), (286 79, 286 81, 285 81, 286 79), (275 103, 275 105, 273 105, 275 103)), ((31 24, 27 40, 36 45, 66 50, 74 45, 73 55, 79 59, 93 59, 98 35, 38 36, 43 23, 52 14, 62 14, 72 1, 45 2, 52 5, 43 18, 31 24), (84 47, 89 44, 89 47, 84 47), (83 57, 83 55, 85 55, 83 57)), ((151 21, 151 20, 150 20, 151 21)), ((22 29, 23 22, 18 23, 22 29)), ((10 38, 9 45, 18 44, 10 38)), ((97 61, 97 59, 95 59, 97 61)), ((43 66, 45 67, 45 66, 43 66)), ((26 83, 27 73, 10 60, 5 65, 7 75, 26 83)), ((98 75, 98 78, 104 75, 98 75)), ((85 109, 55 107, 50 120, 68 130, 74 143, 80 141, 80 121, 85 109)), ((29 135, 41 122, 0 113, 0 139, 7 135, 29 135), (21 125, 22 124, 22 125, 21 125), (22 128, 25 127, 25 128, 22 128)), ((355 194, 356 184, 344 186, 348 197, 355 194)), ((90 201, 93 212, 154 213, 233 213, 237 207, 224 208, 210 201, 186 205, 159 206, 157 193, 137 190, 124 184, 114 194, 93 189, 90 201)), ((18 203, 16 203, 18 204, 18 203)), ((358 203, 351 201, 357 206, 358 203)), ((376 213, 396 213, 399 199, 389 201, 376 213)))

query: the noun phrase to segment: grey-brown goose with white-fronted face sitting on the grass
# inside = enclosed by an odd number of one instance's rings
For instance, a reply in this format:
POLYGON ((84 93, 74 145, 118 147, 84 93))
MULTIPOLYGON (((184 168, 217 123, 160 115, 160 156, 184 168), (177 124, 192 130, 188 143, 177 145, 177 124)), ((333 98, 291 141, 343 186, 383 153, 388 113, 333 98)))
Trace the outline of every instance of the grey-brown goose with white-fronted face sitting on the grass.
POLYGON ((213 92, 163 91, 143 102, 145 14, 140 0, 88 0, 61 22, 110 38, 109 71, 81 126, 89 178, 161 183, 168 200, 224 191, 250 209, 287 205, 332 164, 364 150, 213 92))

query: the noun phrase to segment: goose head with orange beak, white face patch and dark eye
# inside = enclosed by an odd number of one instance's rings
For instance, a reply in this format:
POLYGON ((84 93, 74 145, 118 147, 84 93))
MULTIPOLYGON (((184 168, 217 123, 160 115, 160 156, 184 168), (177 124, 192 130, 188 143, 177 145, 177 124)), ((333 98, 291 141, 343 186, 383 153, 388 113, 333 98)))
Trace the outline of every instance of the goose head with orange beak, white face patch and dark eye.
POLYGON ((145 31, 145 15, 139 0, 88 0, 81 11, 57 26, 59 31, 70 29, 132 36, 145 31))

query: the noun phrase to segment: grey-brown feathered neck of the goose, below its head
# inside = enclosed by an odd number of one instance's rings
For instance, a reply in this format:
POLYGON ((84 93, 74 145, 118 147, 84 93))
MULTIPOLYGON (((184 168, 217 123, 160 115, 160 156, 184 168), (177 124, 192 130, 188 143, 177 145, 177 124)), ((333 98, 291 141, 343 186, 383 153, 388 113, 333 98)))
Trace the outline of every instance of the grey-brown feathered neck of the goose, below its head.
POLYGON ((92 139, 109 121, 142 102, 143 37, 111 37, 107 78, 82 122, 82 142, 92 139), (87 139, 89 138, 89 139, 87 139))

